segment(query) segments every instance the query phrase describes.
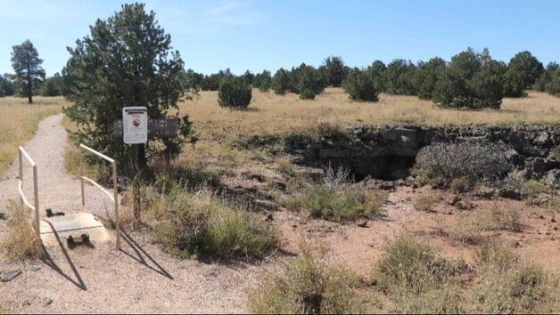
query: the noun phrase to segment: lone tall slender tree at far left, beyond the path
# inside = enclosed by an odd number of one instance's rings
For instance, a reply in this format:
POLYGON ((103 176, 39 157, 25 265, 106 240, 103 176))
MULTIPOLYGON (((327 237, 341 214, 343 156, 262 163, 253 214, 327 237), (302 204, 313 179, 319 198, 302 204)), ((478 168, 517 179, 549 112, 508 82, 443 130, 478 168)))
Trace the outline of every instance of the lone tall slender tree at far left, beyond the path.
POLYGON ((45 80, 42 63, 39 52, 29 39, 12 46, 12 68, 16 81, 21 86, 21 92, 28 97, 29 104, 33 102, 34 90, 45 80))

